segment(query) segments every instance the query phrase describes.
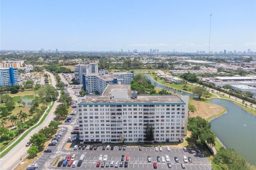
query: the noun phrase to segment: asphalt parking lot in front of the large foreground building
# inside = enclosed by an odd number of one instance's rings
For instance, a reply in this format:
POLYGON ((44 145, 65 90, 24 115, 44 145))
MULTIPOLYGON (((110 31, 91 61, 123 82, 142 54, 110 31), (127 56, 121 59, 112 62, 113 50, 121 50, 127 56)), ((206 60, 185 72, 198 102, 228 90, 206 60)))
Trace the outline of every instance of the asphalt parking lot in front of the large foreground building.
MULTIPOLYGON (((102 147, 98 147, 97 150, 70 150, 65 153, 65 155, 73 155, 76 154, 76 159, 79 160, 79 157, 82 154, 85 154, 85 158, 83 160, 83 164, 81 167, 76 167, 77 169, 95 169, 102 168, 96 167, 97 162, 99 162, 100 155, 107 155, 108 159, 106 162, 120 162, 121 156, 129 155, 130 160, 128 161, 128 167, 125 168, 119 167, 104 167, 108 169, 154 169, 153 163, 157 163, 157 169, 169 169, 167 167, 167 162, 157 162, 157 156, 166 156, 170 157, 170 162, 172 168, 171 169, 182 169, 181 163, 183 162, 183 156, 191 157, 193 163, 185 163, 185 169, 200 169, 200 170, 210 170, 211 164, 206 157, 199 157, 193 152, 183 151, 182 148, 171 148, 170 151, 167 151, 166 148, 163 148, 163 151, 155 151, 153 147, 142 147, 142 151, 139 151, 138 147, 127 147, 126 150, 118 150, 118 147, 114 147, 114 150, 102 150, 102 147), (151 162, 148 162, 147 157, 150 156, 152 158, 151 162), (178 157, 179 163, 174 161, 174 157, 178 157)), ((62 155, 59 155, 64 156, 62 155)), ((54 159, 52 159, 54 160, 54 159)), ((103 162, 103 161, 102 161, 103 162)), ((55 167, 55 169, 70 169, 72 167, 55 167)))

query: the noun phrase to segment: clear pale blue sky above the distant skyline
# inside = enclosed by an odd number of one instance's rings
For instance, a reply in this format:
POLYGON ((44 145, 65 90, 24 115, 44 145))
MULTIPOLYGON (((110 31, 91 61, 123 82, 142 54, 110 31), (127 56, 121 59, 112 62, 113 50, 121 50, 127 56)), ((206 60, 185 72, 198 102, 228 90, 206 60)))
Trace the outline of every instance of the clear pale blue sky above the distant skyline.
POLYGON ((256 0, 0 0, 1 50, 256 51, 256 0))

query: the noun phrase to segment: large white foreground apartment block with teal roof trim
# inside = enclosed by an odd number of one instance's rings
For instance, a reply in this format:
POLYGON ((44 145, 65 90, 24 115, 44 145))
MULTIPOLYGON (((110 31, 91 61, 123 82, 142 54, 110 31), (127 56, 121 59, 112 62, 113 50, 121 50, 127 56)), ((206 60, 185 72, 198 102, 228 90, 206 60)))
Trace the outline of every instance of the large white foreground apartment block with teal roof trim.
POLYGON ((188 96, 137 95, 127 84, 109 84, 102 95, 78 101, 81 143, 137 142, 146 125, 157 142, 182 141, 187 135, 188 96))

